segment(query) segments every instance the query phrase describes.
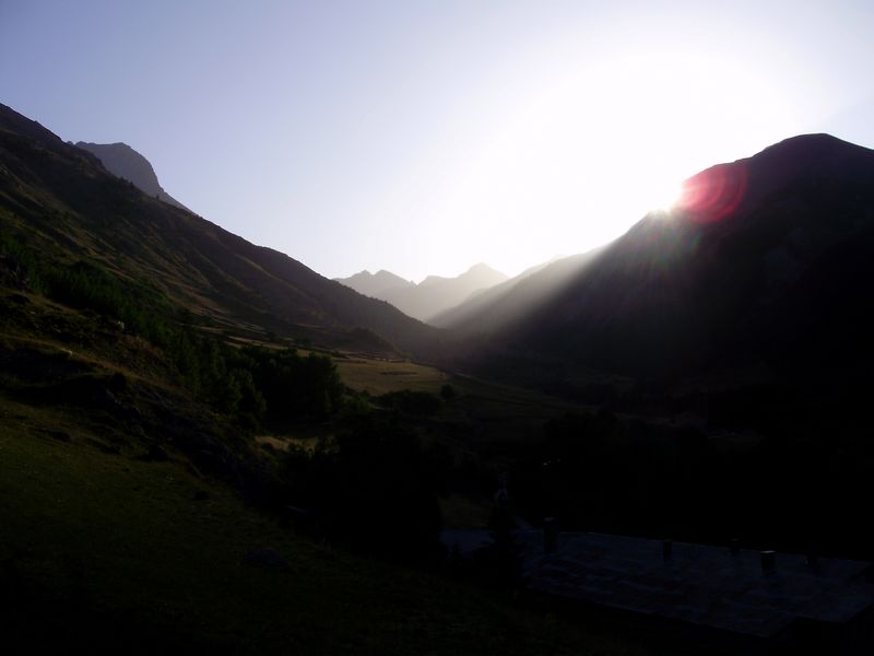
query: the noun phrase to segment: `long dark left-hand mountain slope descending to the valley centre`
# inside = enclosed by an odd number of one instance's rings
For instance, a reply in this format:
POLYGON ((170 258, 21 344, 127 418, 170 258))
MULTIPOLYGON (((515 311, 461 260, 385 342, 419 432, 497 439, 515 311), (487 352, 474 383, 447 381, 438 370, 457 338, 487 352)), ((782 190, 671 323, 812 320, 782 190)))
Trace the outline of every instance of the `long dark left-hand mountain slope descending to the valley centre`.
POLYGON ((391 344, 420 355, 437 350, 435 329, 146 196, 92 153, 3 105, 0 225, 46 257, 96 262, 155 285, 218 328, 233 324, 379 352, 391 352, 391 344))

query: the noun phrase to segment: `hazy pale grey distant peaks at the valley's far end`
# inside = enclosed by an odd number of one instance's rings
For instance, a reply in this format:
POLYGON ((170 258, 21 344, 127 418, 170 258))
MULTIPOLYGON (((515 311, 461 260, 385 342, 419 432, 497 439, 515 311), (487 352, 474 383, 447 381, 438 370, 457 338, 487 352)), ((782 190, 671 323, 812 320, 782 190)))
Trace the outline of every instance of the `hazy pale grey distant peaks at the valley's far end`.
POLYGON ((388 271, 380 271, 370 278, 365 273, 338 281, 363 294, 388 301, 404 314, 427 323, 472 295, 507 280, 507 276, 484 263, 474 265, 456 278, 428 276, 418 284, 388 271), (382 286, 383 283, 386 286, 382 286))

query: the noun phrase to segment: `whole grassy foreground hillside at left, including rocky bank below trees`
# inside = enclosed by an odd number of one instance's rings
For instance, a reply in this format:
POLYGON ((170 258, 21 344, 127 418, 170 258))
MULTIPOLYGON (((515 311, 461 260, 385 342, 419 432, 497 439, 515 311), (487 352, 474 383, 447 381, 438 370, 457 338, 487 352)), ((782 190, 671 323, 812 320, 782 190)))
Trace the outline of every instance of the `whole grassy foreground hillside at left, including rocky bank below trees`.
POLYGON ((299 532, 264 503, 275 455, 192 397, 162 349, 0 293, 4 653, 654 653, 299 532))

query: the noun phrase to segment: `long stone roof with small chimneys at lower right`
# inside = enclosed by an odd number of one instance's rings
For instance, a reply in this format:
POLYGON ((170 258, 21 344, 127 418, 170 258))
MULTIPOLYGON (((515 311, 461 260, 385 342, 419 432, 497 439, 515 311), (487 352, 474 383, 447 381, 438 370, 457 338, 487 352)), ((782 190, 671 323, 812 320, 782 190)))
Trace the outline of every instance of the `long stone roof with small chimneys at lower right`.
POLYGON ((540 531, 520 531, 523 573, 532 590, 771 637, 800 619, 842 624, 874 606, 871 563, 777 553, 765 571, 761 552, 600 534, 560 534, 544 553, 540 531))

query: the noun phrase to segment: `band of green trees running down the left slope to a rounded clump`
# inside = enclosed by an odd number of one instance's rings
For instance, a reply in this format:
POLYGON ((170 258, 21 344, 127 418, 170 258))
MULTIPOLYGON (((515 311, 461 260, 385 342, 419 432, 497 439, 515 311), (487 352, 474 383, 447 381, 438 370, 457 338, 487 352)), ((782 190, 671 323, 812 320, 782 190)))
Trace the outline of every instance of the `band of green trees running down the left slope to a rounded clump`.
POLYGON ((0 253, 15 261, 34 292, 120 321, 127 332, 162 349, 194 398, 246 425, 328 417, 341 401, 343 385, 327 356, 229 347, 198 332, 186 313, 149 284, 95 262, 40 258, 9 235, 0 235, 0 253))

